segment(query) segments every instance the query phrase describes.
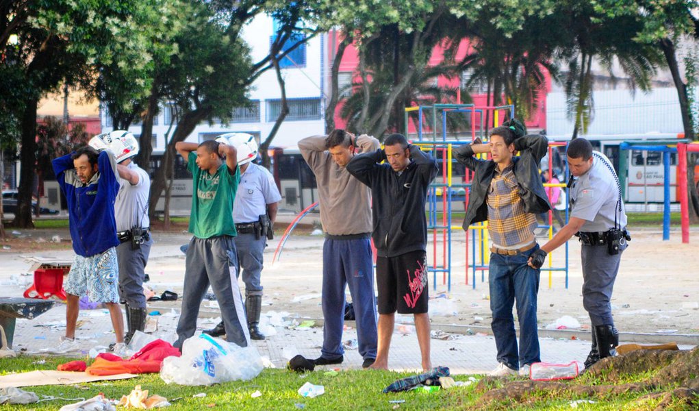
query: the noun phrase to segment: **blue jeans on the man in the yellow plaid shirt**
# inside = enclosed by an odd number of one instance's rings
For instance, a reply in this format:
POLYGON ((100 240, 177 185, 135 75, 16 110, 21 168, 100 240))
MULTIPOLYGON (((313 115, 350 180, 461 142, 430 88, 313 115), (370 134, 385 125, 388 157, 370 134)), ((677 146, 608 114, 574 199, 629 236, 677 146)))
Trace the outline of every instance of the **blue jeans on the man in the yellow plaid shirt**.
POLYGON ((492 253, 489 284, 490 309, 493 312, 493 336, 498 348, 498 362, 513 370, 540 362, 539 336, 536 325, 536 294, 539 291, 540 271, 527 265, 531 250, 514 255, 492 253), (512 306, 517 303, 519 319, 519 355, 517 335, 514 333, 512 306))

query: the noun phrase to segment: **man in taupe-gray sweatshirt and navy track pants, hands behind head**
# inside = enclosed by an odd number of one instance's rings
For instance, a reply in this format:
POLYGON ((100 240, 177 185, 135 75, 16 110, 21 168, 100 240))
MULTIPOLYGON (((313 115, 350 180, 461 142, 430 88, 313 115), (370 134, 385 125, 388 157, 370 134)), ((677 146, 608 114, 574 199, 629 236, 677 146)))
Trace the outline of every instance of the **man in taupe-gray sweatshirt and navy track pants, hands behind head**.
POLYGON ((371 201, 368 187, 352 177, 347 164, 359 152, 373 152, 379 141, 342 129, 312 136, 298 148, 318 183, 323 243, 323 347, 316 365, 342 363, 345 288, 356 318, 359 354, 367 368, 376 359, 376 298, 371 261, 371 201))

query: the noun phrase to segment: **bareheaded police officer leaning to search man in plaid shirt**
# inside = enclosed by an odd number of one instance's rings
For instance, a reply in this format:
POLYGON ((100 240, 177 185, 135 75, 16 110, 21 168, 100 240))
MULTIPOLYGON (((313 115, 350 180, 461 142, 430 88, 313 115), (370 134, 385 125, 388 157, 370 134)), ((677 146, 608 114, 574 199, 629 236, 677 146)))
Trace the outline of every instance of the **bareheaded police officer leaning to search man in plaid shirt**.
POLYGON ((593 152, 584 138, 568 145, 570 220, 554 238, 535 252, 529 265, 540 268, 546 254, 578 236, 582 247, 582 304, 592 322, 592 349, 585 361, 588 368, 616 354, 619 333, 612 318, 612 289, 619 271, 621 253, 628 246, 626 212, 621 201, 619 178, 604 154, 593 152))

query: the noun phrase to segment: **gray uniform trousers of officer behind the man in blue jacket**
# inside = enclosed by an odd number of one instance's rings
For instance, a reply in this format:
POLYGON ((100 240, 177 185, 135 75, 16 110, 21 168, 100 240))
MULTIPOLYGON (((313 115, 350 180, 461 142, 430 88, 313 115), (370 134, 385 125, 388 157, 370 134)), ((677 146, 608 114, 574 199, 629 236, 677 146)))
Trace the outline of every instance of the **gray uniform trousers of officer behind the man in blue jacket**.
POLYGON ((145 265, 153 239, 141 244, 138 250, 131 249, 131 241, 117 245, 117 261, 119 261, 119 296, 129 307, 145 308, 143 295, 143 278, 145 265))

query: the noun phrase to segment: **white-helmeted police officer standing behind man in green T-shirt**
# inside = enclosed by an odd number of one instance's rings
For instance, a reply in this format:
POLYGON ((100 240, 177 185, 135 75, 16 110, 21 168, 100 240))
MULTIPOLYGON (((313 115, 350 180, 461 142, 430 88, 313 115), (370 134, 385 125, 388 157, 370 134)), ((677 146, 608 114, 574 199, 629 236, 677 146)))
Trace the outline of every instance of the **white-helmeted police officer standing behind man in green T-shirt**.
MULTIPOLYGON (((262 305, 262 254, 267 245, 268 233, 271 238, 278 203, 282 196, 272 174, 266 168, 252 163, 257 157, 257 143, 253 136, 230 133, 219 136, 217 140, 219 139, 238 149, 240 183, 236 201, 233 203, 233 221, 236 222, 238 232, 235 242, 238 264, 245 283, 245 312, 250 338, 264 340, 264 335, 258 329, 262 305)), ((240 276, 240 273, 238 275, 240 276)), ((226 333, 223 322, 204 332, 211 336, 222 336, 226 333)))

